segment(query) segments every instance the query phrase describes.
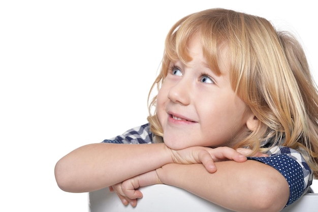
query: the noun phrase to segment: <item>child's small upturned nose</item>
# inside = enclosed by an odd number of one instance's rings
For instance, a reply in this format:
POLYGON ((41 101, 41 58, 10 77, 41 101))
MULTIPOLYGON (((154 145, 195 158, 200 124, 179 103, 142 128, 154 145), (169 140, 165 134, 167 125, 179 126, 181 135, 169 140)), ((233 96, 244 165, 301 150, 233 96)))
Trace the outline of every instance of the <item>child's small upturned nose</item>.
POLYGON ((191 89, 191 83, 189 83, 186 79, 182 79, 170 88, 168 98, 174 103, 188 105, 191 100, 191 89))

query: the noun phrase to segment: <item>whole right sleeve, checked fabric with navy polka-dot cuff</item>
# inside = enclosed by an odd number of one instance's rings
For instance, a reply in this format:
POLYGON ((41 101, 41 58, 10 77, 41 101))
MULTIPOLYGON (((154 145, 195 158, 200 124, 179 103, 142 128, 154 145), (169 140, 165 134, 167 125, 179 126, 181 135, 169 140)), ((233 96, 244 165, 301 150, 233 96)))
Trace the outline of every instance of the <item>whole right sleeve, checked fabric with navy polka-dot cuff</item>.
POLYGON ((306 193, 312 183, 313 173, 303 156, 292 148, 275 146, 267 154, 268 157, 249 157, 248 159, 265 163, 285 177, 290 187, 290 197, 286 206, 290 205, 306 193))

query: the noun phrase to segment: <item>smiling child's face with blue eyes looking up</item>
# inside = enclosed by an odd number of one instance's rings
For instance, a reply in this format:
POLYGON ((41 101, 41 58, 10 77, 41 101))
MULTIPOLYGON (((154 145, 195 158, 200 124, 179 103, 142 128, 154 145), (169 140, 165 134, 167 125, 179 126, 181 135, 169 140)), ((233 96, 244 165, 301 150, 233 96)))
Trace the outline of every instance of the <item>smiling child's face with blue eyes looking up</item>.
POLYGON ((227 48, 221 52, 220 76, 208 68, 198 36, 189 41, 188 51, 193 60, 171 63, 158 92, 164 141, 173 149, 230 145, 246 129, 249 110, 231 87, 227 48))

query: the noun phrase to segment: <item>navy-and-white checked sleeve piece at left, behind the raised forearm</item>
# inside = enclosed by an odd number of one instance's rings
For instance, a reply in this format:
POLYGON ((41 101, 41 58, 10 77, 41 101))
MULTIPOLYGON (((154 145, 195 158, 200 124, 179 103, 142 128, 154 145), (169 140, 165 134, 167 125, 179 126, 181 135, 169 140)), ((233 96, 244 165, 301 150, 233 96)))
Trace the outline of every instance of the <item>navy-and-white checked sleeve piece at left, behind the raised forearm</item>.
POLYGON ((149 123, 135 127, 111 139, 105 139, 105 143, 152 143, 152 133, 149 123))

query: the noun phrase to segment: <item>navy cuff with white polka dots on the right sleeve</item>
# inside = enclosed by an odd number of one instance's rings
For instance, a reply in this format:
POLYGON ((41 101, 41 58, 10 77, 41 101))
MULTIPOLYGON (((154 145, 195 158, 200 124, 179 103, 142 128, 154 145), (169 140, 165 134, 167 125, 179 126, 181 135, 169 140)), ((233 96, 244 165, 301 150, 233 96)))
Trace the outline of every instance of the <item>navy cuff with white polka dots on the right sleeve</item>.
POLYGON ((275 168, 285 177, 290 187, 290 197, 287 205, 292 204, 301 197, 304 191, 304 176, 302 167, 297 161, 287 154, 271 155, 269 157, 249 157, 248 159, 265 163, 275 168))

